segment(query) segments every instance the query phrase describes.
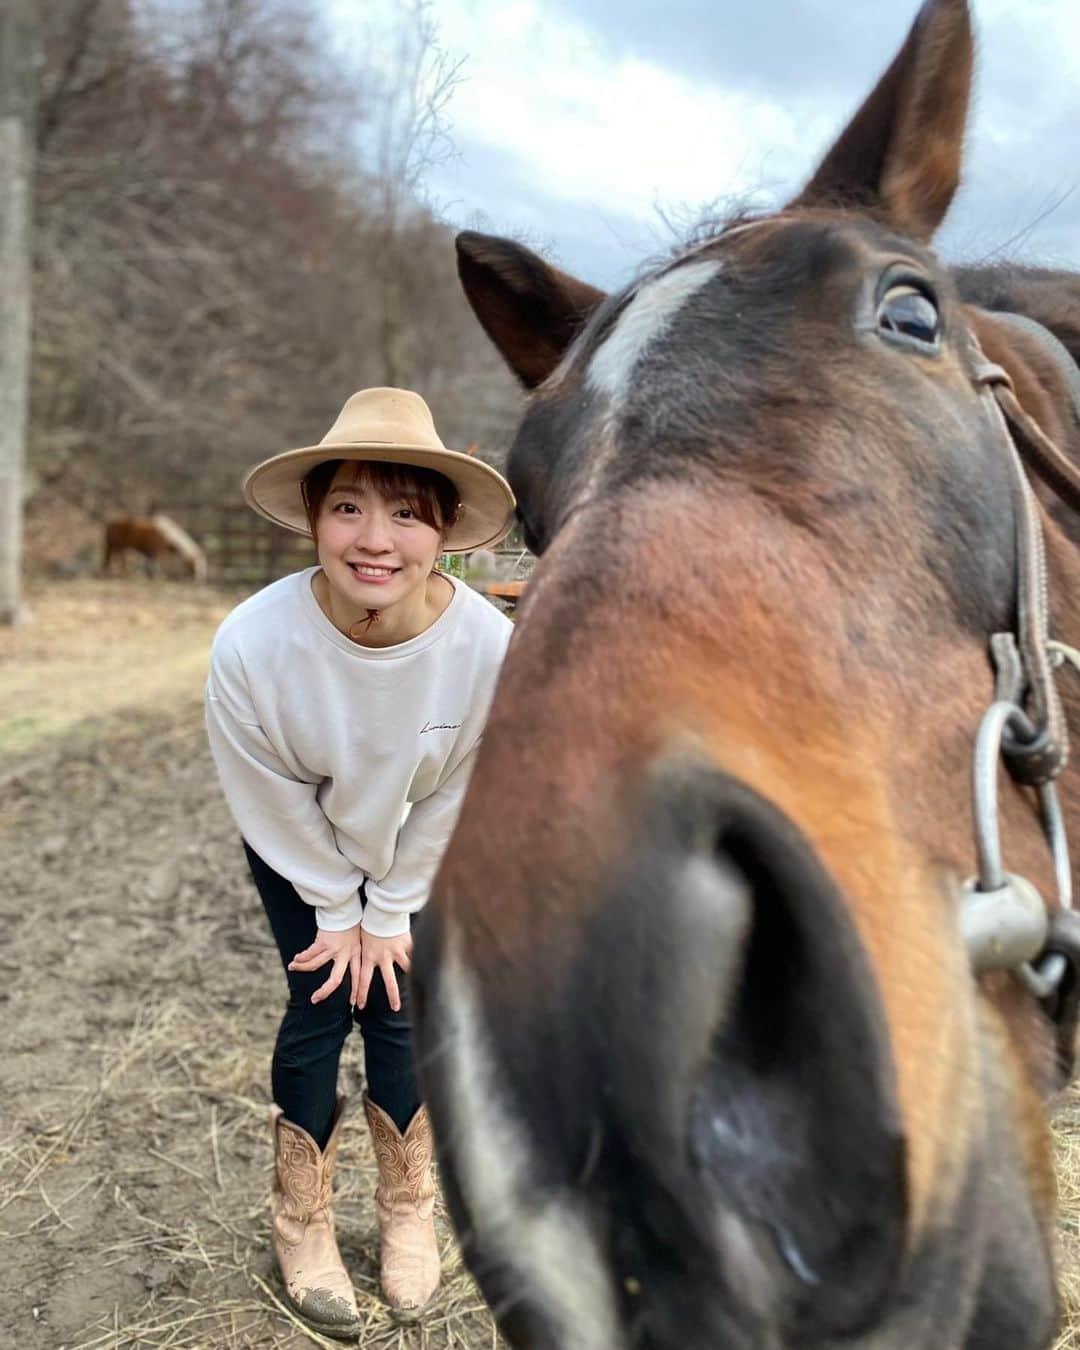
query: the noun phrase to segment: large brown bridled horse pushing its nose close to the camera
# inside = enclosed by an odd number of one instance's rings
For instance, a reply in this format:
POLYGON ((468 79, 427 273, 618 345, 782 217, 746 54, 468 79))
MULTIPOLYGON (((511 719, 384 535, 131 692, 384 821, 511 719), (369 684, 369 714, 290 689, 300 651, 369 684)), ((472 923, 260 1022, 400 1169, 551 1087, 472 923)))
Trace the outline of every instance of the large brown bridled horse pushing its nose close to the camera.
POLYGON ((1053 1338, 1080 277, 929 250, 971 69, 929 0, 794 201, 610 297, 459 238, 541 558, 414 1008, 513 1346, 1053 1338))

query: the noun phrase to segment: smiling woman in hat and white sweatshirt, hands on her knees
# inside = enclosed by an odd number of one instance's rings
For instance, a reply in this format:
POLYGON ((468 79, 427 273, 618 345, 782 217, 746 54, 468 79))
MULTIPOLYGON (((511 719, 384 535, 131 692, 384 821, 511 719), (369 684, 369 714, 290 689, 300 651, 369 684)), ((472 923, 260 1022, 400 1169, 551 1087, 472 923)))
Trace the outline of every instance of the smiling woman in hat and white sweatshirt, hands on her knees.
POLYGON ((400 389, 354 394, 319 446, 258 464, 244 494, 310 535, 319 556, 230 614, 207 687, 221 787, 289 986, 271 1065, 271 1242, 296 1310, 355 1336, 331 1193, 338 1062, 354 1019, 383 1293, 414 1316, 439 1282, 409 929, 458 815, 510 624, 435 562, 500 539, 514 501, 493 468, 447 450, 423 398, 400 389))

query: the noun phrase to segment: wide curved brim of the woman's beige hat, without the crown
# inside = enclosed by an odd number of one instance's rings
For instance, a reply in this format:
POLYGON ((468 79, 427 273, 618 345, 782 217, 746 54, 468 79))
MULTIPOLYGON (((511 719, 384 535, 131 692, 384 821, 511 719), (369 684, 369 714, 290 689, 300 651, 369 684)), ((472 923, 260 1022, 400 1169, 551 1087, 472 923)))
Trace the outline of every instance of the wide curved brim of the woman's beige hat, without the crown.
POLYGON ((433 468, 448 478, 458 489, 460 510, 446 532, 443 552, 467 554, 490 547, 504 539, 513 525, 514 494, 502 474, 490 464, 456 450, 387 441, 343 441, 286 450, 248 471, 243 481, 244 501, 275 525, 310 537, 300 483, 309 470, 328 459, 410 464, 433 468))

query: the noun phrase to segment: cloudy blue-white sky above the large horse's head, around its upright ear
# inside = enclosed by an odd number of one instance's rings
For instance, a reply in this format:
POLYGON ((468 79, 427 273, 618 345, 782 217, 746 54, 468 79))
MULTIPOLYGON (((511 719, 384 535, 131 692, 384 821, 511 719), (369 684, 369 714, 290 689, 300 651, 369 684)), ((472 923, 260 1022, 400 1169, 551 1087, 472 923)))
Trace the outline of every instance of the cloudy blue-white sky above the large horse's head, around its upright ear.
MULTIPOLYGON (((327 0, 347 31, 350 0, 327 0)), ((393 3, 393 0, 385 0, 393 3)), ((716 198, 801 186, 891 61, 918 0, 435 0, 463 59, 456 147, 429 181, 458 225, 603 286, 716 198)), ((950 258, 1080 267, 1080 0, 975 0, 950 258), (1042 217, 1042 219, 1041 219, 1042 217)))

